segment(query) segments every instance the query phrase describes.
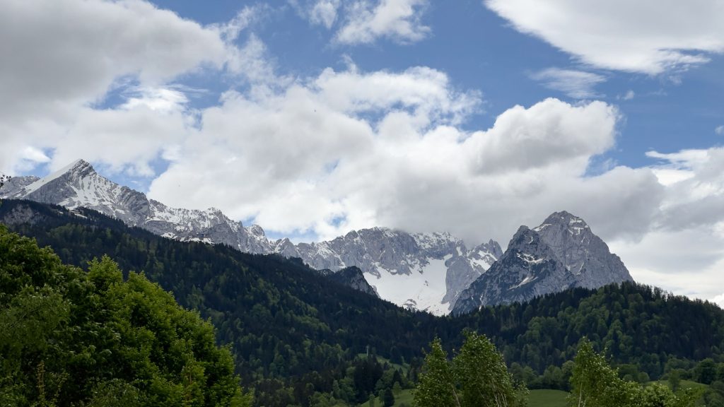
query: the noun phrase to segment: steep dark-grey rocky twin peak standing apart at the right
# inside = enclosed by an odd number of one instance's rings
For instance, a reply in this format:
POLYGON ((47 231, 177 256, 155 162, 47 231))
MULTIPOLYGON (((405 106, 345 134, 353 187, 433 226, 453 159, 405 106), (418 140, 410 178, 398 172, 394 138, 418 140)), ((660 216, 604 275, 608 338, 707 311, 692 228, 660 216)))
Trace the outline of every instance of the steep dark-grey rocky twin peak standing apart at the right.
POLYGON ((521 226, 500 259, 460 294, 452 313, 624 281, 633 281, 628 269, 586 222, 555 212, 539 227, 521 226))

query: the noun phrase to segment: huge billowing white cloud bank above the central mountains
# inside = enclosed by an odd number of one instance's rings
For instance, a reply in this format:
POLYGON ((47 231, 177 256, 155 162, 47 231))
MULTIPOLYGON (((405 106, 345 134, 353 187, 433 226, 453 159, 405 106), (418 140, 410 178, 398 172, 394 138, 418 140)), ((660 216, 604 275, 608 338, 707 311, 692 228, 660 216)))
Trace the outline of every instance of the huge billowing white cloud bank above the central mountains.
POLYGON ((605 237, 648 229, 661 188, 650 169, 586 176, 590 159, 615 145, 615 107, 551 98, 463 130, 479 104, 426 67, 328 69, 279 93, 227 93, 201 112, 149 193, 319 238, 384 225, 505 244, 521 223, 559 209, 605 237), (612 222, 618 212, 626 216, 612 222))

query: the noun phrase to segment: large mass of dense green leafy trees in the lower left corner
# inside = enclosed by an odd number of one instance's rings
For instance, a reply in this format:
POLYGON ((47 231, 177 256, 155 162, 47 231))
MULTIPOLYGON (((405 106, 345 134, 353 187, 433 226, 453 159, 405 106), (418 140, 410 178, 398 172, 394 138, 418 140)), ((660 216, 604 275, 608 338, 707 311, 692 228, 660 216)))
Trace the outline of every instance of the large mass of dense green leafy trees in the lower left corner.
POLYGON ((248 406, 214 328, 108 257, 88 273, 0 225, 0 405, 248 406))

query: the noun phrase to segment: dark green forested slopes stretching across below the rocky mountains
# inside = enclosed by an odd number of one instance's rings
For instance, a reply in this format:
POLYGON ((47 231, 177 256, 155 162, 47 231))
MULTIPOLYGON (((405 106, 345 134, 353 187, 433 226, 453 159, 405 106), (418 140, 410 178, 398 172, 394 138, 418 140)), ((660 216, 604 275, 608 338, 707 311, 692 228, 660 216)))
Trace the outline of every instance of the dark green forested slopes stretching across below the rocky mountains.
POLYGON ((529 389, 574 390, 586 337, 623 382, 694 380, 709 386, 707 406, 723 405, 724 311, 657 288, 573 289, 439 318, 337 285, 298 259, 167 240, 87 209, 4 201, 0 222, 75 267, 109 256, 123 279, 143 277, 197 310, 255 406, 355 405, 415 387, 430 343, 455 355, 464 332, 489 338, 529 389))

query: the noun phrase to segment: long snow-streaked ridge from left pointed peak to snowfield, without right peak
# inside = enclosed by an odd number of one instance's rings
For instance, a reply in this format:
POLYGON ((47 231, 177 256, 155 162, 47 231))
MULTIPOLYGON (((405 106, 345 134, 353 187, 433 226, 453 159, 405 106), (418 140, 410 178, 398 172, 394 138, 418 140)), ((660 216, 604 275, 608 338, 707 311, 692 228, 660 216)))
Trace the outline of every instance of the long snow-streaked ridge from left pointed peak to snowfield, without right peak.
POLYGON ((502 255, 493 240, 468 249, 446 232, 411 234, 384 227, 319 243, 269 240, 261 227, 244 227, 219 209, 177 209, 149 199, 102 177, 83 160, 43 178, 14 177, 0 189, 0 198, 95 209, 166 238, 225 244, 245 253, 279 253, 314 269, 358 267, 380 297, 436 315, 448 314, 460 293, 502 255))

